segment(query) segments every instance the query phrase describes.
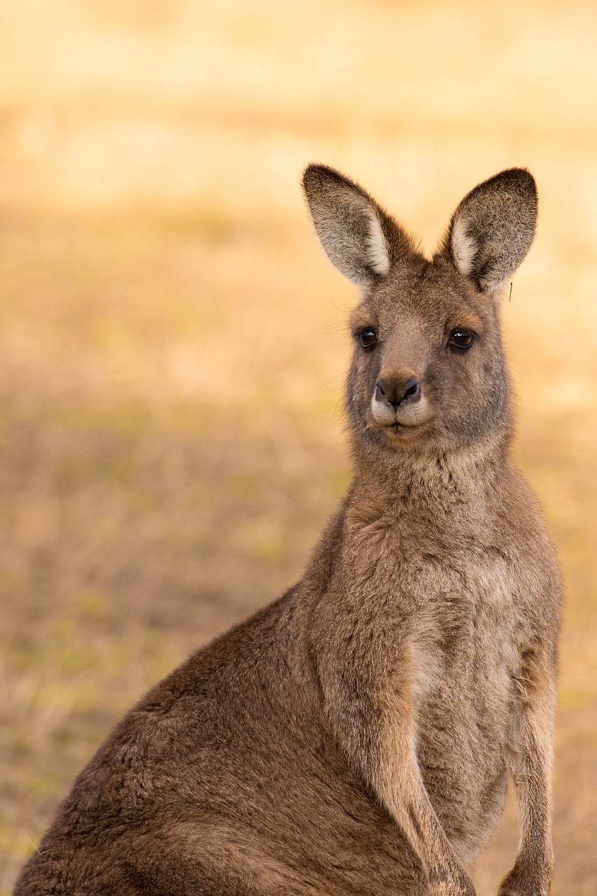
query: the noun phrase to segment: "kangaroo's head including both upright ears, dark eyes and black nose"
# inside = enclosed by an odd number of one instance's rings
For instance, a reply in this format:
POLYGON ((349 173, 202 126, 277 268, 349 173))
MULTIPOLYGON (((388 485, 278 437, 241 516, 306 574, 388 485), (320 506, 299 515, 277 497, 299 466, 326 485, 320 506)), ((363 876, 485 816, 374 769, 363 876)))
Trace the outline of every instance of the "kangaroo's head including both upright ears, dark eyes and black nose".
POLYGON ((529 172, 511 168, 476 186, 431 260, 333 168, 309 165, 303 184, 325 253, 361 290, 347 388, 356 447, 395 456, 506 440, 498 298, 535 232, 529 172))

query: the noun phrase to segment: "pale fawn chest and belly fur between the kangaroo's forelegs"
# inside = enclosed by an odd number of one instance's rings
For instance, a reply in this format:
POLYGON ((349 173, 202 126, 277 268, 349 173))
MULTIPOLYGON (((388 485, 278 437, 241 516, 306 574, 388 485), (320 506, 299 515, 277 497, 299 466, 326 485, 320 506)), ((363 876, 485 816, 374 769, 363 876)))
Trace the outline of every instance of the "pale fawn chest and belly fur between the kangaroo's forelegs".
POLYGON ((470 549, 441 569, 423 565, 419 582, 407 639, 418 759, 446 831, 472 857, 505 796, 517 582, 497 551, 470 549))

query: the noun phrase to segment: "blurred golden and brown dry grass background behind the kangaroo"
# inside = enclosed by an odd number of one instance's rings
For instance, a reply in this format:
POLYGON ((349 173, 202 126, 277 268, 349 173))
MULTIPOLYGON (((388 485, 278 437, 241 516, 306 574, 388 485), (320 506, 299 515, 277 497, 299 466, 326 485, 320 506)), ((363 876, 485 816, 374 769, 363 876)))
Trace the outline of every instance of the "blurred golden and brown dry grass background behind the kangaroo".
MULTIPOLYGON (((597 892, 594 4, 0 4, 0 892, 125 709, 295 580, 348 482, 344 169, 432 248, 541 191, 518 461, 567 582, 554 893, 597 892)), ((476 870, 495 892, 515 808, 476 870)))

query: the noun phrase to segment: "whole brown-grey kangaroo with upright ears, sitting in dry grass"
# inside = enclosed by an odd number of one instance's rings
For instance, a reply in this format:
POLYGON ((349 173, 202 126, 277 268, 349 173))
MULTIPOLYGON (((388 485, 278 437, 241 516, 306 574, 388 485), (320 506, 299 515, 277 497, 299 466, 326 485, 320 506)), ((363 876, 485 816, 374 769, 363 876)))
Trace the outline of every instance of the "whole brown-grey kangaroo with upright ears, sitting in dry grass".
POLYGON ((333 168, 303 183, 360 290, 348 495, 298 584, 117 725, 15 896, 472 896, 508 772, 499 896, 549 892, 561 590, 509 457, 499 309, 534 180, 476 186, 431 258, 333 168))

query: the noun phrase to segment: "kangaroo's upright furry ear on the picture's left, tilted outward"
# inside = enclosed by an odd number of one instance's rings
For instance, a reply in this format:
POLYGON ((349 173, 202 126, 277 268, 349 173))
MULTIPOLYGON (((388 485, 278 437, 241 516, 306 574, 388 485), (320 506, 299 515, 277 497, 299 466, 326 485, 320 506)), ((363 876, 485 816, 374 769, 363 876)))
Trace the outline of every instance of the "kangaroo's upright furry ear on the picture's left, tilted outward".
POLYGON ((385 277, 411 237, 369 196, 339 171, 309 165, 303 187, 324 251, 338 270, 359 286, 385 277))

